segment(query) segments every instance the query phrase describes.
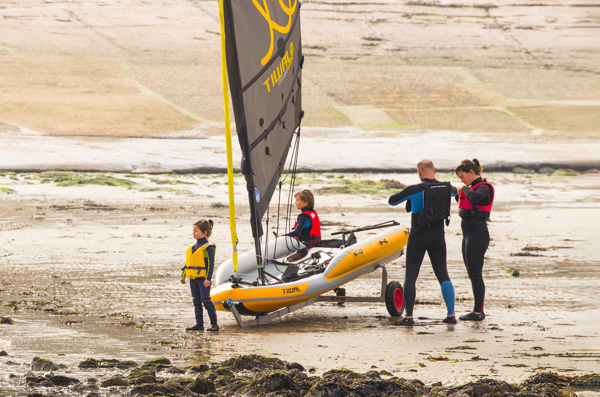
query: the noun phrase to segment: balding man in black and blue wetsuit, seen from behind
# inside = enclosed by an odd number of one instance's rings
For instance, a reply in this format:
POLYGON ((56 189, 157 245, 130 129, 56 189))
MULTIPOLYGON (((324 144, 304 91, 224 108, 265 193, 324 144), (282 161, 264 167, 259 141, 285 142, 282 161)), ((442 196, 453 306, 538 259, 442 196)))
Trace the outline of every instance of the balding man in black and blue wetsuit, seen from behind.
POLYGON ((456 187, 449 182, 436 180, 436 168, 429 159, 417 164, 417 174, 421 183, 407 186, 401 192, 389 198, 390 205, 406 201, 406 212, 412 211, 409 240, 406 244, 406 276, 404 278, 404 302, 406 317, 401 325, 413 325, 413 307, 415 305, 415 282, 419 276, 425 251, 431 260, 431 266, 442 289, 448 314, 442 322, 455 324, 454 286, 446 269, 446 239, 444 223, 450 222, 451 196, 457 194, 456 187))

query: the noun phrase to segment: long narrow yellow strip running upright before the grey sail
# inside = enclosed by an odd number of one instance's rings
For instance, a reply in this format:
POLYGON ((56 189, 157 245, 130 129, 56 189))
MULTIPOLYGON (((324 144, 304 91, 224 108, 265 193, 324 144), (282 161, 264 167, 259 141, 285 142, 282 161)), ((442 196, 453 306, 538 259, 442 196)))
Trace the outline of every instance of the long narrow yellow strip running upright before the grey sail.
POLYGON ((227 57, 225 54, 225 22, 223 0, 219 0, 221 22, 221 80, 223 80, 223 105, 225 113, 225 143, 227 145, 227 187, 229 190, 229 229, 233 246, 233 272, 238 271, 238 231, 235 226, 235 202, 233 200, 233 159, 231 147, 231 121, 229 119, 229 89, 227 88, 227 57))

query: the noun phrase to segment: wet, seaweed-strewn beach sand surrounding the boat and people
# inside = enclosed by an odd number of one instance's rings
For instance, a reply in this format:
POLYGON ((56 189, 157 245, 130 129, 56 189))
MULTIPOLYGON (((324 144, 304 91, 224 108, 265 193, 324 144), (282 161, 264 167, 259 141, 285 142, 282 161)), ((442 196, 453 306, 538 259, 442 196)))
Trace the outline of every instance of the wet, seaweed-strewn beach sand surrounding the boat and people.
MULTIPOLYGON (((376 366, 444 385, 481 377, 519 382, 542 369, 569 375, 598 369, 599 174, 487 175, 497 198, 484 266, 487 317, 481 323, 439 322, 445 308, 425 259, 417 282, 422 303, 415 306, 418 320, 412 328, 395 326, 382 304, 319 304, 245 330, 220 313, 217 334, 185 331, 193 307, 188 287, 178 279, 191 223, 199 217, 215 220, 217 263, 229 256, 227 212, 221 207, 227 199, 225 178, 109 176, 136 184, 64 187, 40 183, 40 174, 0 177, 3 188, 14 190, 0 192, 0 316, 14 319, 0 325, 0 348, 10 354, 0 357, 0 390, 26 394, 25 380, 8 375, 23 375, 33 356, 65 363, 70 376, 82 379, 89 375, 74 368, 86 357, 143 362, 166 356, 184 365, 250 353, 314 366, 317 374, 376 366), (523 253, 535 256, 514 256, 523 253), (519 269, 520 277, 506 274, 509 268, 519 269)), ((319 193, 322 220, 346 228, 389 219, 409 225, 403 209, 387 205, 393 191, 373 192, 365 181, 410 184, 416 175, 339 176, 299 175, 298 187, 362 189, 353 195, 319 193)), ((452 175, 438 177, 458 184, 452 175)), ((249 249, 244 187, 236 178, 239 247, 249 249)), ((271 225, 276 208, 274 201, 271 225)), ((325 226, 324 235, 340 227, 325 226)), ((457 314, 472 308, 460 238, 453 208, 446 241, 457 314)), ((401 258, 387 266, 388 280, 403 281, 403 263, 401 258)), ((347 284, 347 291, 377 295, 379 286, 380 272, 374 272, 347 284)))

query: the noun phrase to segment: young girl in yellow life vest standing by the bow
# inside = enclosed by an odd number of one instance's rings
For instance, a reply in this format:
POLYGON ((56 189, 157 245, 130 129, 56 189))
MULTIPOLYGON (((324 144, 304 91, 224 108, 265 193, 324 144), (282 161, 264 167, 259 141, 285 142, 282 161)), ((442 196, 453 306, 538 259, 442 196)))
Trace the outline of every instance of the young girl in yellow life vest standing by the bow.
POLYGON ((212 219, 200 219, 194 222, 192 236, 196 243, 188 247, 185 254, 185 266, 182 268, 181 284, 185 284, 185 276, 190 278, 191 298, 194 302, 196 325, 186 328, 188 331, 204 331, 202 305, 211 319, 211 326, 206 331, 218 331, 217 311, 211 301, 211 278, 215 267, 215 244, 208 242, 212 234, 212 219))

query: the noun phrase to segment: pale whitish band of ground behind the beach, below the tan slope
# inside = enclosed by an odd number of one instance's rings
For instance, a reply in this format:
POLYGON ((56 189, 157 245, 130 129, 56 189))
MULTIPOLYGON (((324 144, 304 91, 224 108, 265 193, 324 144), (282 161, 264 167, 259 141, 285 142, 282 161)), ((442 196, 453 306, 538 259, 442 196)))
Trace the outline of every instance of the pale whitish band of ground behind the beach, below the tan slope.
MULTIPOLYGON (((1 171, 226 172, 225 140, 197 126, 150 138, 54 137, 23 129, 0 132, 1 171)), ((485 159, 488 171, 551 167, 600 169, 600 140, 547 140, 452 131, 399 132, 302 128, 298 170, 409 172, 422 158, 451 171, 460 159, 485 159), (377 153, 377 156, 373 156, 377 153)), ((233 144, 233 166, 241 150, 233 144)))

